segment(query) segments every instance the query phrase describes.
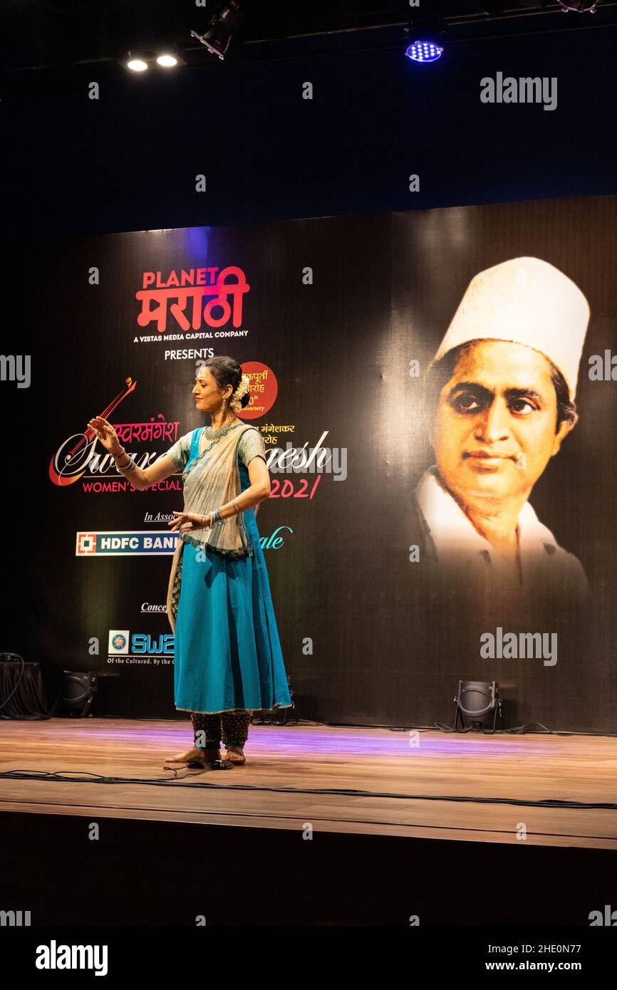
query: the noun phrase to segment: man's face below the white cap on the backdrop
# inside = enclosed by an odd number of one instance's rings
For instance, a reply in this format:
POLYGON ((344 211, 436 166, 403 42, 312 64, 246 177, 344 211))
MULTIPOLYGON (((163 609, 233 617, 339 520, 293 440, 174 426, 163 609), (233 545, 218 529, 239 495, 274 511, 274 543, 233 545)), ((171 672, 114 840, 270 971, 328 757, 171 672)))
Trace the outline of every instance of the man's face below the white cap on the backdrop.
POLYGON ((440 393, 431 443, 447 487, 464 502, 527 497, 569 430, 556 433, 551 366, 531 347, 480 341, 440 393))

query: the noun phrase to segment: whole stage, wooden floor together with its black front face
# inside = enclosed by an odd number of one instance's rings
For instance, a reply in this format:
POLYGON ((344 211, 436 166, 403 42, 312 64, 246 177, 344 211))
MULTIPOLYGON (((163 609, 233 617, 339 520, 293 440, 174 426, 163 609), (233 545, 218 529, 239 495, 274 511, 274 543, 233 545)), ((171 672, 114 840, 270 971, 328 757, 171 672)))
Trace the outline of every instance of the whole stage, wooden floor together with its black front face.
POLYGON ((171 770, 188 721, 0 732, 1 899, 33 925, 588 925, 614 901, 612 738, 252 726, 245 765, 171 770))

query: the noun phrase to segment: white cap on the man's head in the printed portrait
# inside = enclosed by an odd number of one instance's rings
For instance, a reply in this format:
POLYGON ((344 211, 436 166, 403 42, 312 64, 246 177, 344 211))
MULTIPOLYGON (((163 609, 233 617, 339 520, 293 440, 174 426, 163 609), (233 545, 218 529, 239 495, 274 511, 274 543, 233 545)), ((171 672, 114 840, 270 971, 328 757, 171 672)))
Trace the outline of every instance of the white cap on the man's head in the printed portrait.
POLYGON ((433 362, 467 341, 523 344, 557 365, 573 399, 588 322, 589 304, 563 271, 514 257, 471 279, 433 362))

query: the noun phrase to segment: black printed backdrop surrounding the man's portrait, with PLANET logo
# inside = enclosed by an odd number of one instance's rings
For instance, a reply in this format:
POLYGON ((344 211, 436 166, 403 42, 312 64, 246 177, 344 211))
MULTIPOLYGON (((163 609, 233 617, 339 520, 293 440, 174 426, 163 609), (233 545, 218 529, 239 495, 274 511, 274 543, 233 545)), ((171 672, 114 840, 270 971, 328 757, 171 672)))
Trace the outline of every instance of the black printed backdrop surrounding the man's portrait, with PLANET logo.
POLYGON ((85 430, 103 415, 141 466, 154 462, 205 422, 191 394, 200 361, 230 354, 252 379, 242 418, 267 450, 272 493, 257 527, 301 718, 452 725, 459 679, 471 678, 499 682, 504 725, 614 730, 615 203, 54 242, 45 374, 33 369, 53 414, 39 425, 47 522, 26 658, 106 675, 100 714, 174 715, 164 602, 177 538, 166 521, 182 508, 181 477, 134 491, 85 430), (434 581, 412 519, 414 489, 435 459, 427 367, 470 279, 525 257, 564 272, 591 314, 579 421, 530 497, 580 562, 591 599, 577 611, 566 585, 549 581, 545 611, 533 615, 513 614, 506 599, 500 611, 471 580, 466 597, 434 581), (540 634, 544 652, 508 652, 508 634, 540 634))

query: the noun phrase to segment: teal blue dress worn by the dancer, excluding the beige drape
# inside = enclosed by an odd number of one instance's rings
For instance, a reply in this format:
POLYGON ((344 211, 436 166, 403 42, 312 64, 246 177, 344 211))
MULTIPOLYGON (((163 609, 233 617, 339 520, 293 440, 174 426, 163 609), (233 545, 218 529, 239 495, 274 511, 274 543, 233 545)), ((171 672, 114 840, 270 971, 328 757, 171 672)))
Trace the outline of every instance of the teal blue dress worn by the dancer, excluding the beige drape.
MULTIPOLYGON (((201 432, 185 435, 167 451, 183 473, 199 455, 201 432)), ((243 491, 251 484, 249 461, 263 452, 261 435, 247 430, 237 450, 243 491)), ((174 645, 174 699, 179 711, 291 706, 254 510, 248 509, 244 519, 253 545, 251 556, 230 558, 208 545, 204 552, 184 544, 174 645)))

